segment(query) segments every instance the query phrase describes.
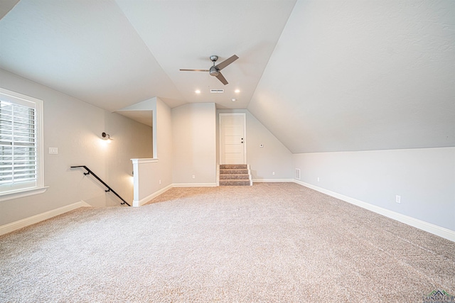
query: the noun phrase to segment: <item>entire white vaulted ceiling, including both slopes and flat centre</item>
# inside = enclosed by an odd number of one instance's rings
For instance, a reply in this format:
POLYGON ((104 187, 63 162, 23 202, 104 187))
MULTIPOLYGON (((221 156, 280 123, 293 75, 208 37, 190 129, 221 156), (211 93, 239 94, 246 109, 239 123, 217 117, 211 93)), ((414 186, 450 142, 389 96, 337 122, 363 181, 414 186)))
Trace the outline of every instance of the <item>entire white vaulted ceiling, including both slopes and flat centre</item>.
POLYGON ((293 153, 455 146, 452 0, 5 0, 1 16, 1 69, 109 111, 249 109, 293 153), (227 85, 179 71, 234 54, 227 85))

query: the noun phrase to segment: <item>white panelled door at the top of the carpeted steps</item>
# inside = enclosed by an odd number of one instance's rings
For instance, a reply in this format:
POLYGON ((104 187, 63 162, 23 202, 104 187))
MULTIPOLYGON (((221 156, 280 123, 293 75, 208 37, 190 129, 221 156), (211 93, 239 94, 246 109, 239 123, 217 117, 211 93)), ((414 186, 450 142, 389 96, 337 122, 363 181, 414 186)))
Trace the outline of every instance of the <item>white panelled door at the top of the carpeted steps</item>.
POLYGON ((247 164, 245 113, 220 114, 220 164, 247 164))

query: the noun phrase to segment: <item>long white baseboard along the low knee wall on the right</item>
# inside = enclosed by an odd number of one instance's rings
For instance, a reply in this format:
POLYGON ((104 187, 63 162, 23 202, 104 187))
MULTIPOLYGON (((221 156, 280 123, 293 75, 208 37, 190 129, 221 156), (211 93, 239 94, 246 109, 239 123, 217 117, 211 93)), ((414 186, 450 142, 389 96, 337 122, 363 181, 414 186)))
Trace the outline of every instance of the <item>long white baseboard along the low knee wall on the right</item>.
POLYGON ((387 216, 387 218, 394 219, 396 221, 400 221, 404 224, 413 226, 415 228, 422 229, 422 231, 427 231, 429 233, 433 233, 436 236, 440 236, 441 238, 446 238, 447 240, 455 242, 455 231, 451 231, 448 228, 444 228, 441 226, 437 226, 419 219, 412 218, 412 216, 406 216, 404 214, 397 213, 395 211, 390 211, 389 209, 384 209, 380 206, 376 206, 367 202, 360 201, 358 199, 353 199, 351 197, 345 196, 343 194, 338 194, 337 192, 331 192, 328 189, 323 189, 322 187, 317 187, 313 184, 301 182, 299 180, 293 180, 295 183, 303 185, 304 187, 309 187, 314 189, 318 192, 322 192, 323 194, 328 194, 331 197, 335 197, 337 199, 343 200, 350 204, 354 204, 357 206, 362 207, 363 209, 368 209, 369 211, 373 211, 377 214, 381 214, 382 216, 387 216))

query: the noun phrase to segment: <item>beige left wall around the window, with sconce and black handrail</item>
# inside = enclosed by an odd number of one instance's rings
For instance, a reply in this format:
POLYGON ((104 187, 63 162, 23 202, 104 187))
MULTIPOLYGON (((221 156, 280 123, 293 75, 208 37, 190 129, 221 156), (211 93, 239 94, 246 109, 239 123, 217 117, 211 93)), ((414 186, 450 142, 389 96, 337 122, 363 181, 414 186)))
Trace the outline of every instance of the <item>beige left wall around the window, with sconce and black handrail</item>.
POLYGON ((72 165, 90 167, 127 202, 133 198, 131 158, 150 155, 151 128, 0 70, 1 87, 43 100, 44 184, 48 190, 0 202, 0 226, 75 202, 119 204, 92 176, 72 165), (114 139, 101 140, 105 131, 114 139), (48 148, 58 148, 49 155, 48 148))

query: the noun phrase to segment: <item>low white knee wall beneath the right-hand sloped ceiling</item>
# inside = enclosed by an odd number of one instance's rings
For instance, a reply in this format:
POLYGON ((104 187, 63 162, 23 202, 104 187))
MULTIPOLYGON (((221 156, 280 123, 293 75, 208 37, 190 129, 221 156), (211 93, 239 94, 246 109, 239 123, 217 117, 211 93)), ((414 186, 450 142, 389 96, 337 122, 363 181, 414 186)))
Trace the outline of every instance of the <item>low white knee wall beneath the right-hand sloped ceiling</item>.
POLYGON ((301 153, 293 160, 301 182, 455 231, 455 148, 301 153))

